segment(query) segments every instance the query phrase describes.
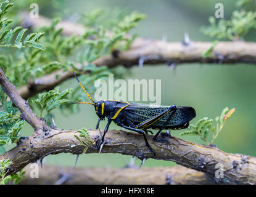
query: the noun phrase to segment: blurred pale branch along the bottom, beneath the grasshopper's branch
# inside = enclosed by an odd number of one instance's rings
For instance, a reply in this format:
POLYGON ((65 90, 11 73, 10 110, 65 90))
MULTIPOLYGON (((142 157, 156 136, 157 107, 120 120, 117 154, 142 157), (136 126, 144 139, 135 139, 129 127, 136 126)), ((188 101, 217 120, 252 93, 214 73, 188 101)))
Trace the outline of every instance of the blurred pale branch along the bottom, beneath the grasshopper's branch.
POLYGON ((31 179, 31 169, 25 167, 25 178, 19 184, 67 184, 67 185, 206 185, 215 184, 203 172, 188 169, 183 166, 173 167, 141 167, 141 169, 125 168, 105 168, 105 167, 39 167, 39 179, 31 179), (110 179, 111 177, 111 179, 110 179))

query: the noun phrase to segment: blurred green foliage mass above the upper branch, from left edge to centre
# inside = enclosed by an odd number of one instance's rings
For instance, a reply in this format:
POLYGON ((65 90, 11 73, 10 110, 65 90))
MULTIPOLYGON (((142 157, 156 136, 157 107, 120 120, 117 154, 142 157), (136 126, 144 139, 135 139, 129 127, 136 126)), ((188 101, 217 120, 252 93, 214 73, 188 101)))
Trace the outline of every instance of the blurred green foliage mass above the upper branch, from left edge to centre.
MULTIPOLYGON (((88 15, 86 16, 88 17, 88 15)), ((97 17, 97 15, 94 17, 97 17)), ((30 48, 12 55, 0 55, 0 65, 4 68, 10 82, 14 83, 16 87, 24 86, 29 81, 53 71, 78 71, 81 69, 80 66, 93 65, 96 58, 108 54, 114 49, 129 47, 135 35, 125 37, 125 33, 136 26, 142 18, 144 18, 144 15, 138 12, 126 17, 120 15, 118 22, 115 22, 119 25, 108 29, 104 25, 95 26, 93 23, 96 19, 89 17, 88 20, 91 20, 91 23, 88 24, 91 26, 85 26, 84 34, 73 36, 62 36, 63 30, 57 28, 60 18, 54 18, 50 26, 39 30, 44 32, 43 37, 41 37, 43 33, 31 33, 26 37, 28 41, 35 38, 37 41, 40 38, 44 46, 47 47, 46 50, 30 48), (114 33, 110 34, 110 31, 114 33), (75 58, 75 56, 78 58, 75 58), (74 58, 77 60, 73 60, 74 58)), ((104 18, 104 21, 107 20, 104 18)))

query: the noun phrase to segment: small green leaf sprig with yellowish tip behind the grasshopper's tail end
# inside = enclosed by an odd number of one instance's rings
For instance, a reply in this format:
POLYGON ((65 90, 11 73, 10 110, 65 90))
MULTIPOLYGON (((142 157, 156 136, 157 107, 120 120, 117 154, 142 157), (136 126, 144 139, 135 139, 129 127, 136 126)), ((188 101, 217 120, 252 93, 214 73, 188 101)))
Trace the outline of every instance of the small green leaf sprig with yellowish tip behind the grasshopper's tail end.
POLYGON ((215 126, 213 126, 213 119, 208 118, 202 118, 197 121, 195 125, 189 126, 189 131, 184 131, 181 133, 181 135, 199 135, 200 139, 206 142, 208 145, 211 145, 215 142, 215 140, 218 137, 218 134, 223 129, 223 126, 225 125, 228 118, 233 115, 235 109, 229 110, 228 107, 226 107, 220 116, 217 116, 215 118, 215 126), (209 131, 212 131, 212 142, 209 143, 207 141, 207 137, 209 135, 209 131))

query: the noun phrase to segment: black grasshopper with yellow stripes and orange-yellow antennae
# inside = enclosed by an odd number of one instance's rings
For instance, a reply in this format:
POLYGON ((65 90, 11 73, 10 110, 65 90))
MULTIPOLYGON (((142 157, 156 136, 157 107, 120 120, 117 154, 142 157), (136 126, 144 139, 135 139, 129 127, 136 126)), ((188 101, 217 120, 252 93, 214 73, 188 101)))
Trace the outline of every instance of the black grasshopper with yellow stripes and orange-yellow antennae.
POLYGON ((73 74, 86 95, 88 95, 89 99, 93 102, 74 103, 94 105, 96 115, 99 117, 96 129, 99 128, 99 122, 107 118, 107 126, 105 126, 104 134, 102 135, 98 148, 100 148, 104 142, 105 134, 109 129, 110 123, 113 121, 120 127, 142 134, 147 147, 155 156, 154 150, 147 142, 145 133, 151 132, 147 129, 159 129, 157 134, 153 137, 155 142, 168 142, 166 139, 157 138, 163 129, 186 129, 189 126, 189 121, 196 117, 196 111, 192 107, 176 107, 176 105, 154 106, 118 100, 98 100, 94 102, 76 77, 74 71, 73 74))

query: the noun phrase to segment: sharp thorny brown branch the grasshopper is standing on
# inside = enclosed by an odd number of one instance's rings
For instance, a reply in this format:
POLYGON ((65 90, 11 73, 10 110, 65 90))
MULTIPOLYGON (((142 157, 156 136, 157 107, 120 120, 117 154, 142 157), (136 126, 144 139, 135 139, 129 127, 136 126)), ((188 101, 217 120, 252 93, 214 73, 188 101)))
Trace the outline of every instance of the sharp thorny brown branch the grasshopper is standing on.
MULTIPOLYGON (((88 130, 89 137, 99 143, 99 131, 88 130)), ((74 137, 79 136, 76 131, 62 131, 51 129, 49 135, 33 134, 28 139, 12 150, 0 156, 10 158, 13 164, 9 174, 13 174, 27 164, 42 159, 44 156, 57 153, 83 153, 84 146, 74 137)), ((225 153, 218 148, 207 147, 193 142, 172 137, 170 143, 159 143, 152 140, 152 135, 147 135, 147 140, 154 149, 156 156, 146 147, 142 136, 132 132, 109 131, 105 136, 105 145, 101 153, 121 153, 133 155, 140 159, 154 158, 165 161, 174 161, 185 167, 205 172, 214 179, 217 171, 216 164, 223 169, 223 179, 216 179, 219 183, 228 184, 255 184, 256 183, 256 158, 239 154, 225 153)), ((89 144, 86 153, 98 153, 96 145, 89 144)))

